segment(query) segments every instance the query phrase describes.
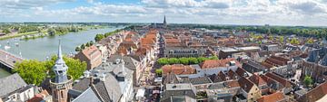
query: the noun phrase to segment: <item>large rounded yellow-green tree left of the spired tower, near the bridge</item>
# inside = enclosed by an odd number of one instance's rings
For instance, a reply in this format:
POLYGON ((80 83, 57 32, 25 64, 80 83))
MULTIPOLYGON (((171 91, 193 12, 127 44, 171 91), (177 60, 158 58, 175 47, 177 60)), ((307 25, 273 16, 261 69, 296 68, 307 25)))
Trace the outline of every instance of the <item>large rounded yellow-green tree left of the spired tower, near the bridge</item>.
POLYGON ((46 77, 45 63, 39 60, 23 60, 15 63, 17 72, 27 84, 40 85, 46 77))

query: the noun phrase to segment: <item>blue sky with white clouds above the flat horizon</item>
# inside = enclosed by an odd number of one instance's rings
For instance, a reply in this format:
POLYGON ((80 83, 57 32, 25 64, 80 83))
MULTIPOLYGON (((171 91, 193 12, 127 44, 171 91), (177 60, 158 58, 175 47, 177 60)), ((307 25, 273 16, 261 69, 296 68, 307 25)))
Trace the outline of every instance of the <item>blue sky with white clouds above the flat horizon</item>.
POLYGON ((327 0, 0 0, 0 22, 327 24, 327 0))

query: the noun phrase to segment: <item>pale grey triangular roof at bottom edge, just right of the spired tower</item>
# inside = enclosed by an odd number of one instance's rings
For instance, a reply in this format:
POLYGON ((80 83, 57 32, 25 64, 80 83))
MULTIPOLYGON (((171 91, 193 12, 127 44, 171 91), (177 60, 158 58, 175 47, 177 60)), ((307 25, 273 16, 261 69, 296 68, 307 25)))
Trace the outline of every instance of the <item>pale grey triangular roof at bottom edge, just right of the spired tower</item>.
POLYGON ((101 102, 92 88, 87 88, 80 96, 74 98, 73 102, 101 102))

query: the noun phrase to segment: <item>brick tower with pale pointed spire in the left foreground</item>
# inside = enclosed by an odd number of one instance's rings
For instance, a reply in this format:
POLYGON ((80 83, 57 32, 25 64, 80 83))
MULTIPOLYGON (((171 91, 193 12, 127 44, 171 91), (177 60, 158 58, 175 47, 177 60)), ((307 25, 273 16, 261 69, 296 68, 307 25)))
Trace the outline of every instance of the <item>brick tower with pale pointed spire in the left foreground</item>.
POLYGON ((55 78, 50 80, 50 87, 54 102, 67 102, 68 90, 72 88, 73 79, 67 76, 68 67, 63 59, 60 41, 57 56, 53 68, 55 78))

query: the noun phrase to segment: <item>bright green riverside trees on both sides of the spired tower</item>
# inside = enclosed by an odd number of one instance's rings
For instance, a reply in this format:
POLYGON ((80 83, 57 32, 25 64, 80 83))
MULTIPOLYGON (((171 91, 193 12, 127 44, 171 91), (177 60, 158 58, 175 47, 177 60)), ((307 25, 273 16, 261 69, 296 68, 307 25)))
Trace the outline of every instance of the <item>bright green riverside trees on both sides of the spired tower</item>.
MULTIPOLYGON (((53 56, 51 60, 23 60, 15 63, 14 72, 17 72, 28 84, 40 85, 47 77, 54 78, 54 61, 57 60, 53 56)), ((78 79, 86 70, 86 62, 74 60, 64 56, 64 61, 68 66, 67 74, 72 76, 73 79, 78 79)))

